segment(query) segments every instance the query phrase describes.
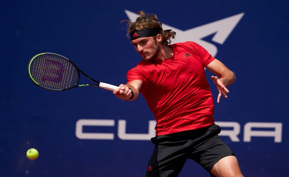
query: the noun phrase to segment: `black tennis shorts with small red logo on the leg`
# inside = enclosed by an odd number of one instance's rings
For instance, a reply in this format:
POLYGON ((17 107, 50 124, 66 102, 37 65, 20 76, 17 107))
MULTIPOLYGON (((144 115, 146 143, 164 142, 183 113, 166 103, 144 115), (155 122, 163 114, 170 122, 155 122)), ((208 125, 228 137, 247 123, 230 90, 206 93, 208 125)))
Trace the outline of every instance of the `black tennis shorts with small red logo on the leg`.
POLYGON ((211 125, 151 138, 155 148, 146 177, 178 176, 187 159, 199 163, 209 173, 220 159, 235 156, 218 134, 221 128, 211 125))

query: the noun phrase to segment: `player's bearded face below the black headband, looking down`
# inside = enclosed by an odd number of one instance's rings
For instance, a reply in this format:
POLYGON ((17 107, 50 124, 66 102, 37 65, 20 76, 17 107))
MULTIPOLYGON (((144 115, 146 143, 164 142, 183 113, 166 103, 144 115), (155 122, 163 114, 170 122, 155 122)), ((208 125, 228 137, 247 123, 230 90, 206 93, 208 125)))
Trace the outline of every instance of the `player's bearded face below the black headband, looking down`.
POLYGON ((158 56, 160 47, 154 37, 138 38, 131 41, 136 51, 145 60, 151 60, 158 56))

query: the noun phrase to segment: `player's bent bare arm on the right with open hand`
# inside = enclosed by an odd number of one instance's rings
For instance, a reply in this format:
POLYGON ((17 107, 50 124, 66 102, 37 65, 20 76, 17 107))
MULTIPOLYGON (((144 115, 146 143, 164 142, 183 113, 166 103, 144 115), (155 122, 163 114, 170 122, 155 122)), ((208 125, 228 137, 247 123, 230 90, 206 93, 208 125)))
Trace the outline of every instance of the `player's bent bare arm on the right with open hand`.
POLYGON ((236 81, 236 76, 234 72, 229 70, 222 62, 217 59, 214 59, 206 66, 206 68, 217 75, 212 76, 211 79, 217 86, 219 92, 217 103, 220 103, 220 98, 222 95, 224 95, 225 98, 228 98, 227 93, 229 93, 229 90, 227 89, 227 86, 236 81))

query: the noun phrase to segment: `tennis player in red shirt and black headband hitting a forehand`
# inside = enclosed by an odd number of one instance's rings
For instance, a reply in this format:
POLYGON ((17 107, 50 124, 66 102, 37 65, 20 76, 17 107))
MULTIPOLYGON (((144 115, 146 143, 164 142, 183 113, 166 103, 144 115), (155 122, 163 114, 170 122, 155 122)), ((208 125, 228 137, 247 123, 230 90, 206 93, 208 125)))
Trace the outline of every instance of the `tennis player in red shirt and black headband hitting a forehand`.
POLYGON ((187 159, 211 176, 243 176, 235 154, 218 136, 221 128, 214 123, 204 67, 216 75, 211 78, 219 92, 217 103, 222 95, 227 98, 234 73, 195 42, 171 44, 176 33, 163 30, 155 14, 138 14, 136 22, 125 21, 143 59, 128 71, 127 84, 113 93, 122 100, 142 93, 157 121, 146 176, 178 176, 187 159))

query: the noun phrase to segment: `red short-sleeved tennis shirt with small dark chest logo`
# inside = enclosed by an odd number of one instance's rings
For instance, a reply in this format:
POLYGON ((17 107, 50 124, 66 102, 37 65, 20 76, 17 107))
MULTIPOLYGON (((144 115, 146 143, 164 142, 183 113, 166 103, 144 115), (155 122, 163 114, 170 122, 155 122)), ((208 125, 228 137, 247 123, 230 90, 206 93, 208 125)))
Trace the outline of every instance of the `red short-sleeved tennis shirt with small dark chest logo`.
POLYGON ((142 81, 140 93, 155 116, 156 135, 214 124, 214 103, 204 67, 215 58, 195 42, 169 45, 165 61, 142 60, 127 72, 127 83, 142 81))

